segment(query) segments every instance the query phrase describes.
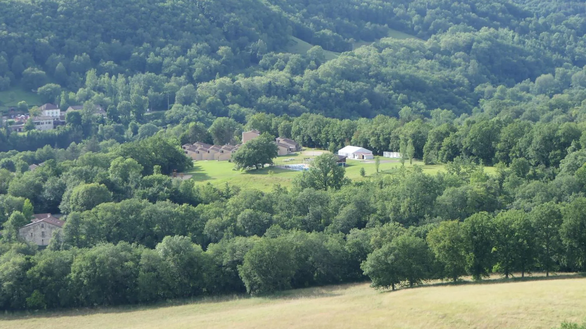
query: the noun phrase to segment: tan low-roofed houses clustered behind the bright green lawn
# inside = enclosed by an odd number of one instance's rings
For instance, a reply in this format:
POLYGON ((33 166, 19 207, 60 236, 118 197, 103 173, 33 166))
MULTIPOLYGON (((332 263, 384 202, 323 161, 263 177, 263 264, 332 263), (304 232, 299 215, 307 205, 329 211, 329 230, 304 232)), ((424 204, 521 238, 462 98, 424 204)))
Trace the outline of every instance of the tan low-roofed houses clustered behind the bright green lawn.
MULTIPOLYGON (((261 132, 257 130, 251 130, 242 133, 242 143, 238 145, 210 145, 202 142, 196 142, 193 144, 185 144, 182 146, 185 154, 191 157, 193 160, 216 160, 216 161, 228 161, 232 153, 235 153, 240 146, 244 143, 257 138, 261 132)), ((275 139, 278 147, 278 155, 288 155, 292 152, 298 152, 301 150, 299 143, 295 140, 279 137, 275 139)))

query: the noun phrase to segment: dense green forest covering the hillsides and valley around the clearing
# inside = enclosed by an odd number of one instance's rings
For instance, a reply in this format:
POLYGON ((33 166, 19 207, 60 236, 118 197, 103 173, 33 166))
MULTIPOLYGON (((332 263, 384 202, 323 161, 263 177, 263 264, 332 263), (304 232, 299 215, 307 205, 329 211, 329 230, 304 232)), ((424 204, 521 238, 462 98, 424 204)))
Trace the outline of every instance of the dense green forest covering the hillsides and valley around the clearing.
POLYGON ((0 91, 83 104, 0 128, 2 310, 586 270, 583 2, 0 4, 0 91), (349 181, 323 156, 290 189, 169 177, 181 145, 245 129, 445 172, 349 181), (42 251, 17 233, 36 213, 65 220, 42 251))

